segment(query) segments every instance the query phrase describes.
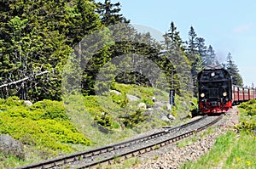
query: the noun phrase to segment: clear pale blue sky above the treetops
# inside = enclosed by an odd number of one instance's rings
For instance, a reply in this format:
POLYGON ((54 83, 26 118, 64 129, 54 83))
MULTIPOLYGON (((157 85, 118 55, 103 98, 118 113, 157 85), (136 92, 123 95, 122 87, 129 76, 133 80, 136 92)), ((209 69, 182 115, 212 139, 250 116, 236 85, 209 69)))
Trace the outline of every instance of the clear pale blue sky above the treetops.
POLYGON ((230 52, 244 85, 256 86, 256 1, 253 0, 112 0, 131 24, 147 25, 163 34, 171 22, 183 41, 192 25, 212 45, 220 62, 230 52))

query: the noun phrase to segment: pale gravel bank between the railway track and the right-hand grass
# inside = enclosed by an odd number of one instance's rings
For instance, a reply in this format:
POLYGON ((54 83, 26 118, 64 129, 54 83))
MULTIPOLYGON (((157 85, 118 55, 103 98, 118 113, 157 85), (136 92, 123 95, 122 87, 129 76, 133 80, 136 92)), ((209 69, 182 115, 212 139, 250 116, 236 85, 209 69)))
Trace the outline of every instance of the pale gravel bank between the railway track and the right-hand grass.
POLYGON ((227 115, 224 115, 221 121, 218 121, 218 123, 212 127, 213 132, 210 132, 204 137, 200 136, 201 132, 196 136, 192 136, 198 139, 186 146, 178 147, 177 143, 170 144, 147 154, 140 155, 138 157, 140 162, 132 166, 132 168, 170 169, 178 168, 186 161, 195 161, 201 157, 201 155, 205 155, 212 149, 218 136, 224 135, 238 123, 238 109, 237 107, 233 107, 227 115))

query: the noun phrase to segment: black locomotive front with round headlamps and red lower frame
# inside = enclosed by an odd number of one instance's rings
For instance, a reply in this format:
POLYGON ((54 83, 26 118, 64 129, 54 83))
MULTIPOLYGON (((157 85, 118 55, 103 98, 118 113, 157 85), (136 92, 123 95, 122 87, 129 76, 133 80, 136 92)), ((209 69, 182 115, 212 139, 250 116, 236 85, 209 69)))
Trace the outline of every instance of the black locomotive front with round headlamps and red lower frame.
POLYGON ((198 105, 203 114, 225 113, 232 107, 231 76, 223 68, 206 68, 197 76, 198 105))

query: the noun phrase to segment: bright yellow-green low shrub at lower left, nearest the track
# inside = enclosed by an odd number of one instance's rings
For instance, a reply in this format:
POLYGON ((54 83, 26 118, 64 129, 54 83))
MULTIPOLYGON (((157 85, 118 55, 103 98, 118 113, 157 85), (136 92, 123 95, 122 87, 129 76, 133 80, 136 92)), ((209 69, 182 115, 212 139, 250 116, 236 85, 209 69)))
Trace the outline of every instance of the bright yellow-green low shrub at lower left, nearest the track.
POLYGON ((49 149, 60 149, 70 151, 67 143, 89 145, 90 140, 84 138, 72 124, 61 123, 55 120, 32 121, 23 117, 1 116, 3 127, 1 133, 9 133, 12 137, 19 139, 23 144, 34 144, 48 147, 49 149))

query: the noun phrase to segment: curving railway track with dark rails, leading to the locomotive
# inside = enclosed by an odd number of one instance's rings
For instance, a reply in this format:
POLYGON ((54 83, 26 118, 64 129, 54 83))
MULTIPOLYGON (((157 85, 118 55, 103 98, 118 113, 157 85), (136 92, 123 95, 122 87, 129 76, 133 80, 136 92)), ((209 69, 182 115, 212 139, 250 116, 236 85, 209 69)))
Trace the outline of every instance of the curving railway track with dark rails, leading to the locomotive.
POLYGON ((203 116, 195 121, 190 121, 177 127, 163 127, 160 132, 155 132, 140 138, 133 138, 117 144, 109 144, 101 148, 90 149, 72 155, 61 156, 49 161, 42 161, 15 169, 26 168, 90 168, 103 163, 111 164, 115 159, 128 158, 139 155, 160 146, 171 144, 179 139, 189 137, 195 132, 212 126, 219 121, 221 116, 203 116))

